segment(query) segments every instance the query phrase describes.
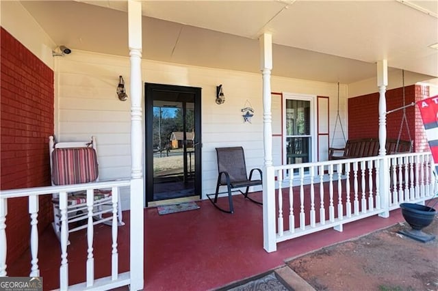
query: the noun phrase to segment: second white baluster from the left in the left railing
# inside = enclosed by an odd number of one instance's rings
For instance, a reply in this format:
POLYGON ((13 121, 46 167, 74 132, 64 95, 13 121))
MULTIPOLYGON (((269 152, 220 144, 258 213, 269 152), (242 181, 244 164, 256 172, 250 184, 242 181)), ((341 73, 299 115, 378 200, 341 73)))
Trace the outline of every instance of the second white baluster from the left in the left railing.
POLYGON ((31 271, 29 277, 39 277, 38 269, 38 196, 29 196, 31 271))

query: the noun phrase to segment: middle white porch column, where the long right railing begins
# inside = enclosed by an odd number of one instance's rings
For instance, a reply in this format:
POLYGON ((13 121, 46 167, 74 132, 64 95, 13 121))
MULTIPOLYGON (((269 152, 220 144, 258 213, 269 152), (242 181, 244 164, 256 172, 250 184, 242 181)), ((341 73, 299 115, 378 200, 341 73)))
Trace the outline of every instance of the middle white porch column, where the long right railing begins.
POLYGON ((272 35, 263 33, 259 38, 260 70, 263 77, 263 248, 276 251, 275 241, 275 181, 272 168, 272 113, 271 70, 272 35))

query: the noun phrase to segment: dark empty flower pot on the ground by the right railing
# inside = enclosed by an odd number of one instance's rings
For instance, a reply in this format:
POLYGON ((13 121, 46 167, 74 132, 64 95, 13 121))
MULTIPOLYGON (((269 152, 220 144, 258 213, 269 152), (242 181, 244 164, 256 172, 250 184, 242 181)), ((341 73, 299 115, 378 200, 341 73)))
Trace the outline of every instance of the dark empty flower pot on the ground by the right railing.
POLYGON ((400 230, 400 234, 419 240, 422 243, 435 239, 435 236, 422 232, 422 229, 432 223, 437 210, 413 203, 402 203, 400 208, 402 208, 404 220, 412 227, 412 230, 400 230))

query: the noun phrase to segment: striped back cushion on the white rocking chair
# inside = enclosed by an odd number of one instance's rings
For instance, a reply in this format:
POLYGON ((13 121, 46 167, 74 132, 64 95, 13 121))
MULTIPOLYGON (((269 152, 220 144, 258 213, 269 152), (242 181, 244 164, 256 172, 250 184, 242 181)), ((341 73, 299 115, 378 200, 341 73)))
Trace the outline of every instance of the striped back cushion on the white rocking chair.
POLYGON ((55 185, 93 182, 99 176, 94 148, 55 148, 52 181, 55 185))

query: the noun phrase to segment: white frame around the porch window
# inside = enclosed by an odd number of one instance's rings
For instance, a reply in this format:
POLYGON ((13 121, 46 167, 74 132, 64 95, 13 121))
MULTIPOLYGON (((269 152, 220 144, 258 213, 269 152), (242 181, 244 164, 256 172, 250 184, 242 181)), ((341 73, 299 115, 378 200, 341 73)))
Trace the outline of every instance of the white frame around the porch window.
POLYGON ((318 136, 317 136, 317 102, 316 102, 316 95, 311 94, 297 94, 297 93, 284 93, 283 92, 283 109, 282 109, 282 124, 283 124, 283 143, 282 143, 282 150, 283 150, 283 165, 286 165, 287 162, 287 155, 286 155, 286 139, 287 139, 287 131, 286 131, 286 100, 304 100, 304 101, 310 101, 310 163, 313 161, 318 160, 318 136))

